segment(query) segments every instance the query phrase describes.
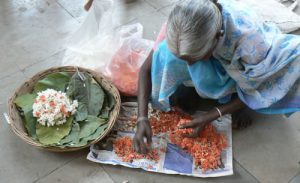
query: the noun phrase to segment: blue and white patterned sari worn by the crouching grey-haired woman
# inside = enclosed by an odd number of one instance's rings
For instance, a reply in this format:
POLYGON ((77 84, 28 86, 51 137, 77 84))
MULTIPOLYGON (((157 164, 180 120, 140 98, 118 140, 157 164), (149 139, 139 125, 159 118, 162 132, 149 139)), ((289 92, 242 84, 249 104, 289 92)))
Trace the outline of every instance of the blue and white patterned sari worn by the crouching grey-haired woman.
POLYGON ((266 114, 300 110, 300 36, 282 34, 238 2, 220 0, 224 36, 209 61, 188 65, 166 41, 152 60, 152 103, 170 110, 169 97, 192 81, 201 97, 224 102, 236 92, 251 109, 266 114))

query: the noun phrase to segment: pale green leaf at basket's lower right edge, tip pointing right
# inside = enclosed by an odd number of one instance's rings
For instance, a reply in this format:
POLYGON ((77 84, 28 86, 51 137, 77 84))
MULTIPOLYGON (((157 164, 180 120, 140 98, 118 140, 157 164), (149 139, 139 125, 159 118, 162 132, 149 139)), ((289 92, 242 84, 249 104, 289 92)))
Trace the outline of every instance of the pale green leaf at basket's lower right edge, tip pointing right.
POLYGON ((79 123, 79 125, 80 125, 79 138, 82 139, 84 137, 90 136, 97 130, 97 128, 100 125, 102 125, 104 123, 107 123, 107 121, 103 120, 101 118, 98 118, 96 116, 88 116, 86 119, 86 122, 79 123))

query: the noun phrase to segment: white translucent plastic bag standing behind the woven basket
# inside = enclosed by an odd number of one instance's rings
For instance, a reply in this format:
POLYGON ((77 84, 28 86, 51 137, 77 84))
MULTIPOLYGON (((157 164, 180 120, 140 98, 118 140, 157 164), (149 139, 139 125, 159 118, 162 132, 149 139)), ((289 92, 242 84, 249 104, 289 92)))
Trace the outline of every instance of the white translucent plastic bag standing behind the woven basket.
POLYGON ((99 71, 118 49, 112 0, 94 0, 87 18, 68 39, 62 65, 99 71))

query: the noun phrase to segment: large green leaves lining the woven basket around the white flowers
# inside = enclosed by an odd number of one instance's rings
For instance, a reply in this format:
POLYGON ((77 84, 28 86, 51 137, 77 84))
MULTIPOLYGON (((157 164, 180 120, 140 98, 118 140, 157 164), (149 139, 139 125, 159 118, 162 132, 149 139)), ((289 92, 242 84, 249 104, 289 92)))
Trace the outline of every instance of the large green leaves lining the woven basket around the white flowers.
POLYGON ((111 94, 87 73, 65 72, 49 74, 38 81, 32 93, 15 99, 28 134, 44 146, 81 147, 99 137, 108 126, 109 113, 115 105, 111 94), (55 89, 66 92, 71 100, 78 101, 77 112, 62 125, 46 127, 33 117, 32 105, 38 92, 55 89))

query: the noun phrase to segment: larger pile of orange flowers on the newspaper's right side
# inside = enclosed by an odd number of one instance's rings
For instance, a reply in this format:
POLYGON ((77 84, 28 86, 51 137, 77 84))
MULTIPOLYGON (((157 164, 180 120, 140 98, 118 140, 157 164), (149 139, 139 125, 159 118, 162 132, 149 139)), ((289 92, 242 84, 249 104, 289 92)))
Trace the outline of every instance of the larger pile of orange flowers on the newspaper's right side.
POLYGON ((160 113, 158 118, 151 117, 150 123, 153 134, 170 132, 169 138, 173 144, 181 147, 195 160, 195 165, 205 172, 221 166, 221 152, 228 144, 224 134, 217 132, 212 124, 208 124, 197 138, 184 135, 193 132, 192 129, 179 129, 178 126, 191 121, 191 117, 177 111, 160 113))

